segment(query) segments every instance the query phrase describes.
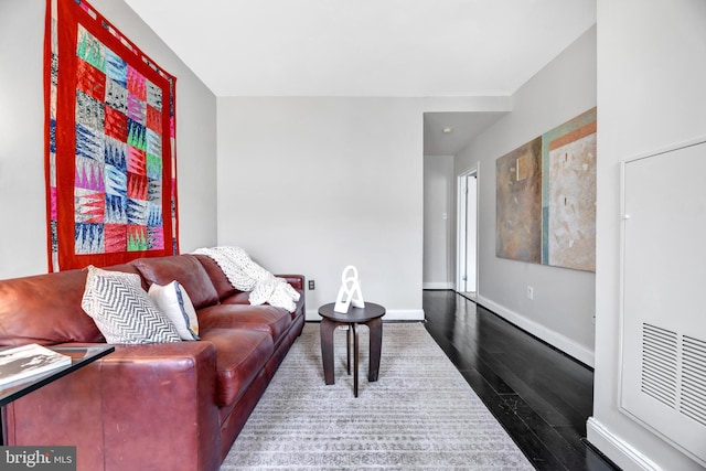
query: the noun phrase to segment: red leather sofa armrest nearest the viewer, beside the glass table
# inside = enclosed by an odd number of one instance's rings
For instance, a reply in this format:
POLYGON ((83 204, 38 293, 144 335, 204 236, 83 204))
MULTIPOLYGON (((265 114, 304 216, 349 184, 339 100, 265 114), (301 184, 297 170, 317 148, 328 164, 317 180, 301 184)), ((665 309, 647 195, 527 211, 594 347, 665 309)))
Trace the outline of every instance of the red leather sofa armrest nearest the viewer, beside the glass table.
POLYGON ((7 445, 76 446, 78 469, 217 470, 215 356, 210 342, 116 345, 8 405, 7 445))

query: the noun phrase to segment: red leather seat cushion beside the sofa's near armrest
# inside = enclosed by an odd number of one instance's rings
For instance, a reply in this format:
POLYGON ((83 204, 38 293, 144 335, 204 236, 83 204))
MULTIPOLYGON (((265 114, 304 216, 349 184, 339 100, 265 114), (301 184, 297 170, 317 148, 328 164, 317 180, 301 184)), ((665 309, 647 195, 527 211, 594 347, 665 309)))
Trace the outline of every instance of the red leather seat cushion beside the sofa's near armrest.
POLYGON ((267 332, 247 329, 201 329, 201 340, 216 347, 216 404, 235 403, 275 351, 267 332))

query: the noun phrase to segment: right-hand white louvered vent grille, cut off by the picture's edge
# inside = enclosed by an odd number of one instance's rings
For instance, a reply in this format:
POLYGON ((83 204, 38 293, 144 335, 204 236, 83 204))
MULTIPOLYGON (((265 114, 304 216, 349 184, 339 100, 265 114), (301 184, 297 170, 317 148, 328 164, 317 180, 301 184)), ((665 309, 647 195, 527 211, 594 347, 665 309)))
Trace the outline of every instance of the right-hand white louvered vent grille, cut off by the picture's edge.
POLYGON ((684 335, 682 360, 682 402, 685 416, 706 426, 706 342, 684 335))

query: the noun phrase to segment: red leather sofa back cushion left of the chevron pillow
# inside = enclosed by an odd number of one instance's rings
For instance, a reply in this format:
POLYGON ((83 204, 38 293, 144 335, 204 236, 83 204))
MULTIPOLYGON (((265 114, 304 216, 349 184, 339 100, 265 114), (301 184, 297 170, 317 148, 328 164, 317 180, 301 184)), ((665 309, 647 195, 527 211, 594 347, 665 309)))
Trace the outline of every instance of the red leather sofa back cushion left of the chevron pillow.
POLYGON ((0 345, 105 342, 81 308, 86 270, 0 281, 0 345))

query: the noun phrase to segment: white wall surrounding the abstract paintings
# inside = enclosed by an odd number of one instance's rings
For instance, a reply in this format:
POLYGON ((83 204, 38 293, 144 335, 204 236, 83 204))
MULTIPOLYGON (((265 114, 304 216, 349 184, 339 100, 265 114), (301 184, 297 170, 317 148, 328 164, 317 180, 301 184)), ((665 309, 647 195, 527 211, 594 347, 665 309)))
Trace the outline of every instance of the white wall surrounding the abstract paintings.
POLYGON ((596 26, 517 90, 513 111, 456 161, 457 174, 480 162, 479 302, 588 365, 593 363, 595 275, 495 257, 495 160, 593 106, 596 26), (534 300, 526 297, 527 286, 534 300))

